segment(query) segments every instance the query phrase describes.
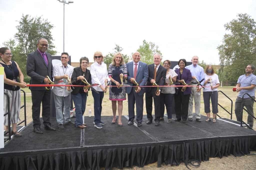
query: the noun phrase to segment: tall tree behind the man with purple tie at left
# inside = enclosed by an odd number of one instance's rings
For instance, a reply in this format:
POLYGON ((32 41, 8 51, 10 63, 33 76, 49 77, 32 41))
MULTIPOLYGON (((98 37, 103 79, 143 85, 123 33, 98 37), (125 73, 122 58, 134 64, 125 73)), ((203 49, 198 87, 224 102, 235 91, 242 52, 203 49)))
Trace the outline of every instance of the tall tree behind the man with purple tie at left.
POLYGON ((4 42, 3 45, 10 48, 13 53, 12 60, 19 64, 22 73, 26 76, 27 55, 37 49, 39 38, 43 37, 48 41, 48 53, 51 55, 57 53, 53 50, 55 46, 52 43, 53 38, 50 31, 54 25, 50 24, 47 19, 29 15, 22 15, 18 23, 19 25, 16 26, 18 32, 14 35, 15 39, 10 39, 4 42))

